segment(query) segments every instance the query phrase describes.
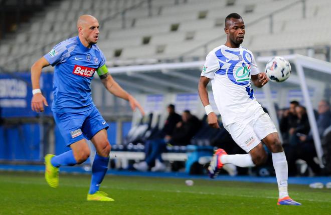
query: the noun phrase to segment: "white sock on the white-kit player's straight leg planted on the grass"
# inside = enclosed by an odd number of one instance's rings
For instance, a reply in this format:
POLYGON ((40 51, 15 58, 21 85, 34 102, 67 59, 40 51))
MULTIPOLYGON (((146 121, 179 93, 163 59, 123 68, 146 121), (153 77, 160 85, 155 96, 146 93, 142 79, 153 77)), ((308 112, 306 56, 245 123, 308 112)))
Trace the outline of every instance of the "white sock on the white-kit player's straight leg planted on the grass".
POLYGON ((277 184, 279 190, 279 198, 288 196, 287 192, 287 161, 285 152, 271 153, 272 163, 275 168, 277 184))

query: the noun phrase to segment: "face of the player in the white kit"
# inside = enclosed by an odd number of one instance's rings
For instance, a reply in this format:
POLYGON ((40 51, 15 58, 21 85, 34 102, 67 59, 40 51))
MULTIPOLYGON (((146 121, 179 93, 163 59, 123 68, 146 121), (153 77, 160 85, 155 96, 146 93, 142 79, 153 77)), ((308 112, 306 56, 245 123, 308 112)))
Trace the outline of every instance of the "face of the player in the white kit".
POLYGON ((242 19, 230 19, 225 28, 225 33, 230 41, 236 45, 242 44, 245 36, 245 24, 242 19))

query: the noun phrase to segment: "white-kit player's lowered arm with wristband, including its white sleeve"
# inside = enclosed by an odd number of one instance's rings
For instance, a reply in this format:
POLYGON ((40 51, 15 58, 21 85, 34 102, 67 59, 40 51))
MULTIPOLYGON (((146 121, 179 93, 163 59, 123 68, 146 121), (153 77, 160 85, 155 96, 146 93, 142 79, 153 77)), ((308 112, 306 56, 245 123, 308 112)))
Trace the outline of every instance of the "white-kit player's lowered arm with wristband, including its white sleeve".
MULTIPOLYGON (((203 67, 200 81, 198 85, 198 92, 200 96, 200 100, 205 107, 206 112, 208 109, 211 109, 209 98, 208 98, 208 91, 207 91, 207 85, 211 79, 214 78, 215 72, 220 69, 220 64, 218 62, 217 57, 215 56, 215 53, 211 52, 206 57, 206 62, 203 67)), ((210 111, 208 111, 210 112, 210 111)), ((207 112, 207 113, 208 113, 207 112)), ((208 124, 213 128, 219 128, 217 116, 214 111, 208 113, 208 124)))

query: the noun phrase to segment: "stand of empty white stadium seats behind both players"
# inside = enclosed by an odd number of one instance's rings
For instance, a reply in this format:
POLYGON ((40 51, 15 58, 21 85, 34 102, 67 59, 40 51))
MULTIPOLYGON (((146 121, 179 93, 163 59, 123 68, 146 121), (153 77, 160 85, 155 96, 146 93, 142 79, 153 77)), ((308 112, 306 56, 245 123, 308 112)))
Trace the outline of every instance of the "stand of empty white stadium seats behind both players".
MULTIPOLYGON (((301 3, 277 12, 272 16, 273 33, 270 33, 269 18, 260 18, 293 2, 295 0, 236 0, 234 5, 227 6, 227 1, 219 0, 188 0, 187 3, 180 1, 178 5, 175 5, 175 1, 153 0, 151 17, 148 17, 147 3, 141 4, 126 12, 123 29, 120 14, 108 20, 109 17, 138 4, 139 1, 64 0, 46 8, 43 19, 31 19, 26 30, 20 31, 10 43, 1 44, 0 56, 12 58, 18 54, 24 55, 33 48, 53 45, 70 34, 76 34, 77 18, 82 14, 91 14, 99 19, 101 25, 98 45, 106 58, 113 63, 176 60, 181 54, 219 38, 185 56, 204 59, 206 53, 225 42, 224 19, 233 12, 239 13, 246 24, 243 46, 261 52, 261 55, 270 53, 270 50, 286 54, 290 49, 306 53, 305 48, 330 45, 331 30, 325 27, 325 22, 331 21, 331 1, 328 0, 306 0, 306 19, 302 19, 301 3), (172 32, 171 27, 174 24, 179 26, 177 31, 172 32), (316 31, 319 34, 315 34, 316 31), (149 44, 142 45, 144 37, 150 37, 149 44), (24 45, 25 43, 28 45, 24 45), (164 47, 164 51, 156 53, 157 47, 164 47), (122 50, 119 57, 114 58, 115 50, 122 50)), ((322 59, 322 56, 319 58, 322 59)), ((20 68, 21 66, 23 67, 23 64, 20 64, 20 68)))

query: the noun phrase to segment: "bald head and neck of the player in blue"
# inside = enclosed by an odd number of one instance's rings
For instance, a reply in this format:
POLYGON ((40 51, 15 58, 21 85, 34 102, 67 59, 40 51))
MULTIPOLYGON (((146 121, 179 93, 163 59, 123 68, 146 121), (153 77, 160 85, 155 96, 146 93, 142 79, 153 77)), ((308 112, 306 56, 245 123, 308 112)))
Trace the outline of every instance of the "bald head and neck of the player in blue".
POLYGON ((77 20, 78 37, 82 44, 90 48, 98 42, 99 22, 91 15, 82 15, 77 20))

